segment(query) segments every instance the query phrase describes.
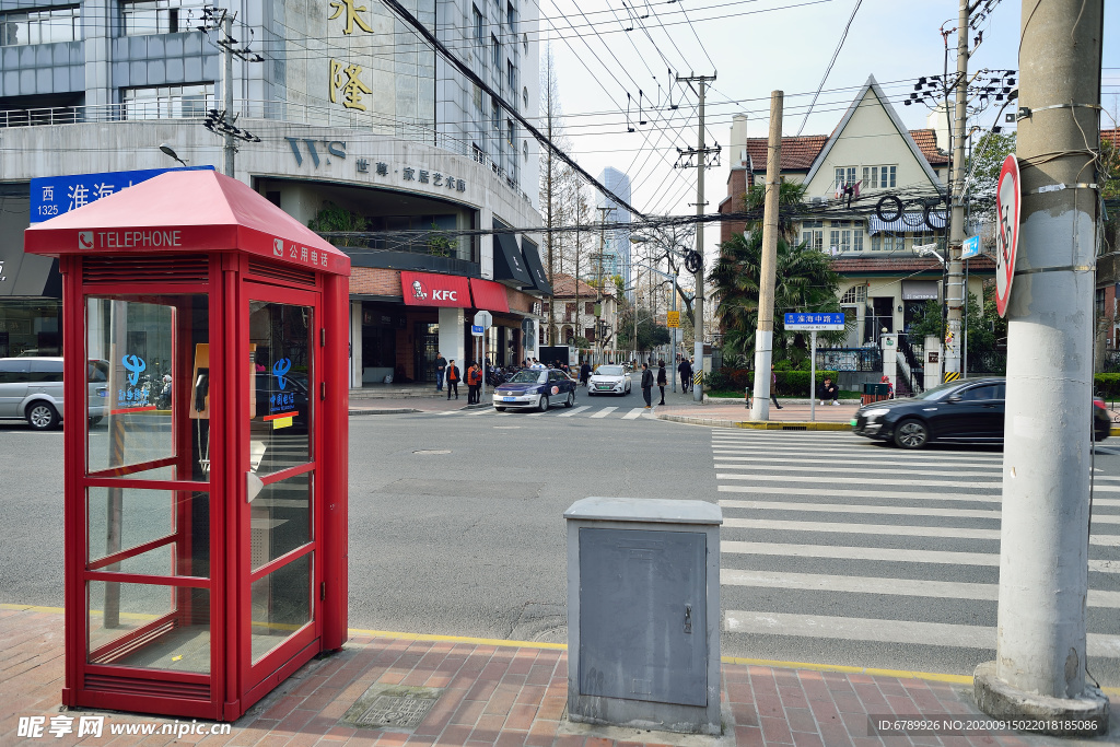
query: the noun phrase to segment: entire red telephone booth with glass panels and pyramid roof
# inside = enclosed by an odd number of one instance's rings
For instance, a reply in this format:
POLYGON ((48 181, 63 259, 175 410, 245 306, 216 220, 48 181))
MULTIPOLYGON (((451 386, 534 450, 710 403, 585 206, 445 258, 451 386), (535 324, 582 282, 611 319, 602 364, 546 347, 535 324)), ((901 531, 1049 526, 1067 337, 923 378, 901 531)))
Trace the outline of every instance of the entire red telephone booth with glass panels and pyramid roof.
POLYGON ((346 639, 349 259, 214 171, 25 244, 63 272, 63 702, 233 720, 346 639))

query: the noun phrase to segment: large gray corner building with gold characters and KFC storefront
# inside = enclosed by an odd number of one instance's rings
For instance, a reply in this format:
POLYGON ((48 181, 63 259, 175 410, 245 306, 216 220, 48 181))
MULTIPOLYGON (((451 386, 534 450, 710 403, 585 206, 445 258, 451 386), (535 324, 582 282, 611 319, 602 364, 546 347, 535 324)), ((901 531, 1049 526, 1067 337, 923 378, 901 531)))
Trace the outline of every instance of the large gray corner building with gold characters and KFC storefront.
MULTIPOLYGON (((437 349, 468 355, 478 308, 495 314, 493 358, 520 360, 535 340, 523 323, 535 330, 548 292, 533 233, 538 146, 514 115, 536 114, 536 7, 403 4, 497 97, 383 3, 232 7, 233 114, 251 138, 237 141, 235 177, 317 230, 380 234, 335 240, 354 268, 354 385, 432 381, 437 349), (507 233, 461 233, 494 227, 507 233), (440 297, 460 280, 468 292, 436 305, 412 295, 409 272, 430 276, 440 297)), ((204 127, 223 108, 221 12, 202 0, 0 0, 0 356, 65 342, 57 267, 22 252, 30 222, 121 186, 103 175, 177 166, 165 143, 193 167, 224 164, 204 127), (32 194, 47 178, 52 193, 32 194)))

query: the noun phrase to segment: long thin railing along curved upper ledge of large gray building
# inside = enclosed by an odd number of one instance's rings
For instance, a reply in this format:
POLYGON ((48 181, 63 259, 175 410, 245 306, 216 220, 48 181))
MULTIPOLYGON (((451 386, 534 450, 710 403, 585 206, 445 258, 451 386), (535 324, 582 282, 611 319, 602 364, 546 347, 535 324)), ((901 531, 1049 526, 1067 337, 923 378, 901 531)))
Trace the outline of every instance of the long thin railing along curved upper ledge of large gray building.
MULTIPOLYGON (((19 109, 0 111, 0 129, 95 122, 195 121, 200 123, 207 111, 212 109, 221 109, 220 102, 214 97, 19 109)), ((475 149, 473 143, 468 141, 437 132, 422 124, 401 122, 376 112, 360 112, 340 106, 293 101, 239 100, 234 102, 233 113, 239 118, 239 125, 250 132, 253 131, 253 127, 240 120, 269 120, 311 127, 354 128, 398 140, 424 142, 458 156, 465 156, 488 167, 519 197, 532 204, 532 199, 521 188, 515 175, 503 168, 488 155, 475 149)))

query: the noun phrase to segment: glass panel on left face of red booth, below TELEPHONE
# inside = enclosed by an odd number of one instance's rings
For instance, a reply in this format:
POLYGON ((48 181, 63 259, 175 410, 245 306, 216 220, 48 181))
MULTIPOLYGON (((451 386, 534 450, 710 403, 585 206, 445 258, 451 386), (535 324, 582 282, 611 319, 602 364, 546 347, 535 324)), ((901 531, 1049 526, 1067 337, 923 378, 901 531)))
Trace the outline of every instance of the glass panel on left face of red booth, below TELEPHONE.
POLYGON ((87 296, 85 316, 105 379, 87 387, 86 662, 208 674, 208 299, 87 296))

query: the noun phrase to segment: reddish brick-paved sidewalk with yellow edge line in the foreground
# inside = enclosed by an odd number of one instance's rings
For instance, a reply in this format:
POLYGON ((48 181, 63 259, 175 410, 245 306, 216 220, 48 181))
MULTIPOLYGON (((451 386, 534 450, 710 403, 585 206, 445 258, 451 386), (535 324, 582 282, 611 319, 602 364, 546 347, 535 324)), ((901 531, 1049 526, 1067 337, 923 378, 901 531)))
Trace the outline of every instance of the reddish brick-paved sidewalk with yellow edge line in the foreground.
MULTIPOLYGON (((49 735, 39 739, 17 738, 18 717, 46 716, 49 719, 59 713, 62 629, 59 611, 0 606, 0 745, 171 744, 171 736, 109 736, 112 725, 170 721, 113 712, 106 713, 105 732, 100 739, 86 737, 78 741, 73 736, 59 739, 49 735)), ((233 723, 232 734, 188 736, 175 744, 237 747, 1081 744, 1006 734, 912 739, 868 737, 869 713, 978 716, 970 700, 971 688, 963 682, 784 669, 736 661, 725 661, 722 666, 722 738, 588 727, 570 723, 564 718, 568 660, 560 646, 361 631, 352 635, 340 653, 310 662, 254 706, 233 723), (431 710, 412 729, 354 728, 343 722, 351 707, 371 687, 422 687, 441 692, 431 710)), ((1120 702, 1113 698, 1113 712, 1118 708, 1120 702)), ((90 713, 100 712, 69 712, 72 716, 90 713)), ((1112 730, 1114 735, 1120 734, 1116 716, 1112 730)), ((1101 740, 1092 744, 1101 744, 1101 740)))

